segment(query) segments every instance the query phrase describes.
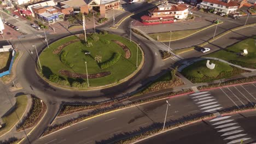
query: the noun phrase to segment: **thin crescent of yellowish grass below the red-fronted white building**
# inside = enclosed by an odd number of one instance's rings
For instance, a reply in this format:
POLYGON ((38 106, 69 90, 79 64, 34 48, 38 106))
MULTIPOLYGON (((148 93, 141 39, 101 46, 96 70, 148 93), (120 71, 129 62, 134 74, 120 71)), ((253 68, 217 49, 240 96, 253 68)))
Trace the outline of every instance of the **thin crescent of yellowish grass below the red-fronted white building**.
MULTIPOLYGON (((210 26, 207 26, 207 27, 210 27, 210 26)), ((203 27, 203 28, 206 28, 206 27, 203 27)), ((184 38, 184 37, 186 37, 190 34, 201 31, 203 28, 189 29, 189 30, 184 30, 184 31, 173 31, 171 40, 177 40, 177 39, 184 38)), ((151 33, 151 34, 148 34, 148 35, 150 37, 152 37, 153 39, 159 40, 159 41, 168 41, 168 40, 170 40, 170 32, 151 33), (159 37, 158 37, 158 35, 159 35, 159 37)))

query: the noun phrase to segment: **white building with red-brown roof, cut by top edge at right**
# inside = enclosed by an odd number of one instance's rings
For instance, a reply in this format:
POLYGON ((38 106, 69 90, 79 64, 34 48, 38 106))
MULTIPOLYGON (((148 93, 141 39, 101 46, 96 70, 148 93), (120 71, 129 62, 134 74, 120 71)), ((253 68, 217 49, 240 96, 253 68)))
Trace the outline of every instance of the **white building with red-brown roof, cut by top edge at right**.
POLYGON ((203 0, 200 4, 197 4, 197 7, 203 9, 213 9, 214 11, 219 11, 221 13, 230 14, 235 13, 238 9, 239 4, 237 1, 230 0, 203 0))

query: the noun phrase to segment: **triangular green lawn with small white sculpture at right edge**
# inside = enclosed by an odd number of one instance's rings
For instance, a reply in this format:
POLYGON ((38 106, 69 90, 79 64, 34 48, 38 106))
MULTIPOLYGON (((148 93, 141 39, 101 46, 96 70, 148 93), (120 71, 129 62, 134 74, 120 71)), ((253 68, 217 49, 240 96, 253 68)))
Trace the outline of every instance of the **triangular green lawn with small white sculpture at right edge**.
POLYGON ((233 64, 241 65, 242 67, 256 69, 256 36, 226 47, 225 50, 210 53, 206 57, 216 57, 233 64), (243 49, 247 49, 248 55, 237 55, 237 53, 243 52, 243 49))

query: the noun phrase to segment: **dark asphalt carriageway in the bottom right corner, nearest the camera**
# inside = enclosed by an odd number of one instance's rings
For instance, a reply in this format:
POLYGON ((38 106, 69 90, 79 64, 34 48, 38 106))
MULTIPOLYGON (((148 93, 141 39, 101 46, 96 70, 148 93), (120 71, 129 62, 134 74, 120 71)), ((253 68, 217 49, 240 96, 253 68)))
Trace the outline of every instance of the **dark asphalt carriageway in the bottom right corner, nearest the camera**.
MULTIPOLYGON (((228 118, 227 118, 228 119, 228 118)), ((200 123, 195 123, 188 125, 187 127, 178 128, 175 130, 168 131, 167 133, 163 133, 154 137, 151 137, 150 139, 137 142, 138 144, 153 144, 153 143, 198 143, 198 144, 216 144, 216 143, 229 143, 234 140, 238 140, 236 143, 241 143, 241 139, 245 138, 251 138, 248 140, 244 140, 242 143, 253 143, 256 142, 256 125, 254 124, 256 121, 256 112, 247 112, 242 114, 236 114, 232 115, 230 118, 232 123, 237 123, 236 130, 230 130, 232 131, 240 131, 240 133, 234 133, 230 135, 224 135, 222 132, 218 132, 219 129, 216 129, 215 127, 217 125, 212 125, 213 122, 205 121, 200 123), (200 129, 199 129, 200 128, 200 129), (246 134, 246 135, 244 135, 246 134), (222 136, 224 135, 224 136, 222 136), (227 139, 229 136, 235 136, 235 135, 244 135, 244 136, 238 136, 234 139, 227 139), (223 140, 226 139, 226 140, 223 140)), ((230 122, 230 123, 231 123, 230 122)), ((228 131, 226 132, 229 133, 228 131)), ((230 137, 232 138, 232 137, 230 137)))

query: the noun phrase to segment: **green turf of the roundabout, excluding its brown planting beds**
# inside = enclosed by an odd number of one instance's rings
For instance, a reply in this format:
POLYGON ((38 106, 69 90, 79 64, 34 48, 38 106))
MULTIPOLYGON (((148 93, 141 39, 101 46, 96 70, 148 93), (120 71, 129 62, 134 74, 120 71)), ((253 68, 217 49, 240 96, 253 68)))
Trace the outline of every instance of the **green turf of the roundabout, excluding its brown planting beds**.
MULTIPOLYGON (((87 35, 90 40, 90 35, 87 35)), ((77 37, 67 37, 56 41, 55 43, 50 45, 49 49, 45 49, 44 52, 40 55, 40 62, 43 67, 43 74, 46 78, 49 78, 51 74, 57 74, 68 81, 67 86, 71 85, 74 81, 84 82, 84 80, 72 79, 69 77, 65 77, 59 74, 59 70, 69 70, 73 73, 86 74, 85 69, 85 61, 87 62, 88 74, 100 73, 103 71, 110 71, 110 75, 104 76, 97 79, 89 79, 90 86, 103 86, 108 85, 110 83, 118 82, 121 79, 124 79, 126 76, 130 75, 133 71, 136 70, 136 54, 137 54, 137 45, 135 43, 130 43, 129 40, 120 37, 114 34, 100 35, 100 40, 97 42, 92 42, 92 47, 86 47, 81 41, 77 41, 75 43, 67 45, 63 50, 68 52, 67 60, 74 64, 72 69, 67 68, 60 61, 60 56, 53 54, 53 50, 56 49, 61 44, 67 43, 67 41, 77 39, 77 37), (110 44, 105 44, 103 40, 110 40, 110 44), (121 43, 125 44, 129 47, 131 51, 131 57, 129 59, 125 58, 125 51, 118 45, 115 44, 111 40, 118 40, 121 43), (85 55, 84 52, 89 51, 90 55, 85 55), (107 69, 101 69, 97 62, 94 60, 96 55, 102 57, 102 62, 108 61, 113 55, 114 52, 121 53, 121 57, 117 63, 115 63, 112 67, 107 69)), ((142 52, 138 51, 138 65, 141 63, 142 52)))

